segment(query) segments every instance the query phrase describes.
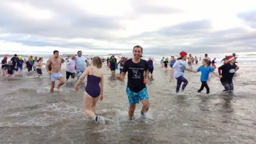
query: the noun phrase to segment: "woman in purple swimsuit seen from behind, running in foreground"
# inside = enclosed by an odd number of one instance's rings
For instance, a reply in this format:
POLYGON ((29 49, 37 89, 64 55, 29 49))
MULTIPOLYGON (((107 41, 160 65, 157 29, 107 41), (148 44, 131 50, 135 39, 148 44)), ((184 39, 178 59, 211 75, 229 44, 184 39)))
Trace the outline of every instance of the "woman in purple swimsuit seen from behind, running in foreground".
POLYGON ((100 123, 103 117, 96 116, 96 103, 100 99, 103 100, 103 81, 104 76, 102 72, 102 61, 100 57, 94 57, 92 60, 92 66, 87 67, 84 73, 79 77, 75 86, 75 92, 79 89, 79 83, 81 83, 87 76, 87 84, 84 92, 83 108, 85 114, 94 119, 95 122, 100 123))

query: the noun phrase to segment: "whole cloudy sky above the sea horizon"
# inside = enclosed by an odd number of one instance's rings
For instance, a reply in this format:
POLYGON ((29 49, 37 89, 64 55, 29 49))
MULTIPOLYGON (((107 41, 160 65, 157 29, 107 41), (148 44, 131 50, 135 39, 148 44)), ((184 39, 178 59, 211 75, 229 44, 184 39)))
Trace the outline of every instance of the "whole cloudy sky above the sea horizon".
POLYGON ((255 52, 255 0, 0 0, 0 53, 255 52), (6 52, 8 51, 8 52, 6 52))

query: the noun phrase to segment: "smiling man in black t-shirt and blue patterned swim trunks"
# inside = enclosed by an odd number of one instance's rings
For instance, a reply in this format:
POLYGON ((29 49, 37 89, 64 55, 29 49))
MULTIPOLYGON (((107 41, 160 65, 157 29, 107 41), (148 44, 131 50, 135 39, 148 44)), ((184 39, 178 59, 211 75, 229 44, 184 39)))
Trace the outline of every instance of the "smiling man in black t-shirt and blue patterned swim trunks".
POLYGON ((137 45, 133 47, 133 58, 124 62, 124 68, 120 76, 116 78, 120 81, 124 79, 128 71, 128 82, 126 93, 129 99, 129 117, 132 119, 136 103, 142 102, 141 115, 144 115, 149 109, 149 98, 146 84, 148 83, 148 62, 142 60, 142 47, 137 45), (145 73, 145 74, 144 74, 145 73))

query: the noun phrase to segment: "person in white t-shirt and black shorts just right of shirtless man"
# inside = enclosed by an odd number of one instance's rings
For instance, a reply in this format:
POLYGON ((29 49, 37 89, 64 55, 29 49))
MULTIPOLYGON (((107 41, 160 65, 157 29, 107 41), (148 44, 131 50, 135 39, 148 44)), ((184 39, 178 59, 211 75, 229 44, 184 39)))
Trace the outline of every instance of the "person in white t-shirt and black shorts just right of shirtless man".
POLYGON ((66 70, 66 81, 71 76, 71 78, 75 78, 75 66, 76 66, 76 55, 73 54, 70 59, 67 59, 67 70, 66 70))

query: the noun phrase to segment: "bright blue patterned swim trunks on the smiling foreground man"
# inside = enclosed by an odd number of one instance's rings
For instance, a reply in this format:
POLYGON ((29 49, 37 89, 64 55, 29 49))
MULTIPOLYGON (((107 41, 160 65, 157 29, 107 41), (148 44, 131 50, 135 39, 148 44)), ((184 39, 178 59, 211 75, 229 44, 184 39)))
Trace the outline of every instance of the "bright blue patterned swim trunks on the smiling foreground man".
POLYGON ((126 94, 129 99, 130 105, 135 105, 136 103, 139 103, 143 99, 149 99, 148 98, 148 89, 145 87, 139 92, 133 92, 130 90, 130 88, 126 87, 126 94))

